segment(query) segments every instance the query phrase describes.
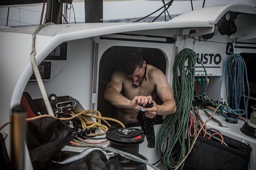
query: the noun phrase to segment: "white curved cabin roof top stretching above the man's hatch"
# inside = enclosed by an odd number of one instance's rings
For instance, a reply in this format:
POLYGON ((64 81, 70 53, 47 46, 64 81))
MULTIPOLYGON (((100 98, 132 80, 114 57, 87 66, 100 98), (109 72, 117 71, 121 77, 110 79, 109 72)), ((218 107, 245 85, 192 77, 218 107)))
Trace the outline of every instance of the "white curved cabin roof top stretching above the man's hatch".
MULTIPOLYGON (((247 4, 228 4, 201 8, 182 14, 168 22, 153 23, 84 23, 62 24, 44 27, 38 35, 54 37, 59 34, 74 34, 65 41, 88 38, 111 33, 122 33, 139 30, 185 27, 214 27, 220 18, 228 11, 256 14, 256 9, 247 4), (73 38, 72 38, 73 37, 73 38)), ((0 32, 32 34, 37 26, 15 27, 1 29, 0 32)))

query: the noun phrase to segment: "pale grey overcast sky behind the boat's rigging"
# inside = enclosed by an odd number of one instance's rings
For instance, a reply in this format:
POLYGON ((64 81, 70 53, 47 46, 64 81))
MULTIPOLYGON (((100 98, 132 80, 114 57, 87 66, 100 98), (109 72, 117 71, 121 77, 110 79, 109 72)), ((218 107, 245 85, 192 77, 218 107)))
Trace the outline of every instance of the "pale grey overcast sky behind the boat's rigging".
MULTIPOLYGON (((206 0, 204 6, 207 7, 231 3, 245 3, 254 7, 256 6, 256 0, 206 0)), ((162 5, 162 1, 147 0, 103 2, 103 20, 144 17, 162 5)), ((84 22, 84 2, 75 2, 73 3, 73 6, 75 9, 76 21, 84 22)), ((203 0, 193 1, 194 10, 202 8, 202 6, 203 0)), ((0 8, 0 25, 6 25, 7 9, 8 8, 0 8)), ((185 13, 191 10, 190 1, 175 0, 172 6, 168 9, 170 14, 185 13)), ((38 25, 41 11, 42 5, 11 7, 9 12, 8 26, 38 25)), ((155 13, 153 16, 157 16, 160 12, 161 10, 158 13, 155 13)), ((70 19, 68 11, 68 21, 69 20, 70 22, 74 22, 73 11, 70 12, 70 19)))

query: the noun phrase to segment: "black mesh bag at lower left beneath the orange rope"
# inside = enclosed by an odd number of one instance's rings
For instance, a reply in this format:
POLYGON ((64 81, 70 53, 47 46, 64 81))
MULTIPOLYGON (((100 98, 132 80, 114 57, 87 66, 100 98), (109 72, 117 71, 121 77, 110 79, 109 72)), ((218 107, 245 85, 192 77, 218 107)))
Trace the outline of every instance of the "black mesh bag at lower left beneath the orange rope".
POLYGON ((34 169, 45 163, 74 139, 74 131, 59 119, 44 117, 26 125, 26 144, 34 169))

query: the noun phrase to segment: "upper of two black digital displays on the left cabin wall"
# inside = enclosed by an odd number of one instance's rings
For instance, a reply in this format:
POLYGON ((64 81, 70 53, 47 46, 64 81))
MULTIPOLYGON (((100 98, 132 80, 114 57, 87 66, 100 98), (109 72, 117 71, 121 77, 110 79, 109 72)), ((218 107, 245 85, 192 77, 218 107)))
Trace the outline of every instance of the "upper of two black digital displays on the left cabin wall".
POLYGON ((45 58, 45 60, 67 60, 67 42, 58 45, 52 52, 45 58))

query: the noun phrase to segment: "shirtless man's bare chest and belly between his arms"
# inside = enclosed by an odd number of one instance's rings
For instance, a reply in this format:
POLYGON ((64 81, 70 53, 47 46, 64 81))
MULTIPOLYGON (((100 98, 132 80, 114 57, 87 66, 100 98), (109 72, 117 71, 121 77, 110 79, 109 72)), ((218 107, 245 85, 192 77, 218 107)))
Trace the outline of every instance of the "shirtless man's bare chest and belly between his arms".
MULTIPOLYGON (((152 99, 155 100, 156 99, 156 91, 155 91, 156 78, 152 76, 152 72, 155 69, 157 68, 149 64, 147 65, 147 73, 146 73, 147 81, 145 81, 144 79, 141 84, 140 82, 133 82, 136 85, 140 84, 138 88, 132 87, 131 78, 128 78, 124 73, 122 73, 121 75, 123 76, 124 81, 122 85, 121 94, 130 100, 132 100, 135 96, 149 96, 149 95, 151 95, 152 99)), ((138 114, 137 110, 127 109, 127 108, 117 108, 116 119, 124 123, 138 122, 136 118, 137 114, 138 114)))

